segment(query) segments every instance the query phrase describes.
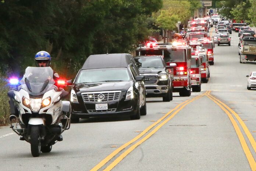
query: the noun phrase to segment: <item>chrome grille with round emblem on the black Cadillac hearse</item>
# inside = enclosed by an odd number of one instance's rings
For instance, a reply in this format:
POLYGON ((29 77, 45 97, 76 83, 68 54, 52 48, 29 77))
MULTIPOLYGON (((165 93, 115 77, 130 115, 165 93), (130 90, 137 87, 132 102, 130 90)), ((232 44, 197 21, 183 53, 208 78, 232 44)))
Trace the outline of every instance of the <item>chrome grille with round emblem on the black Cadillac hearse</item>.
POLYGON ((88 92, 82 93, 84 102, 91 103, 104 103, 111 101, 118 101, 120 98, 121 91, 111 92, 88 92))

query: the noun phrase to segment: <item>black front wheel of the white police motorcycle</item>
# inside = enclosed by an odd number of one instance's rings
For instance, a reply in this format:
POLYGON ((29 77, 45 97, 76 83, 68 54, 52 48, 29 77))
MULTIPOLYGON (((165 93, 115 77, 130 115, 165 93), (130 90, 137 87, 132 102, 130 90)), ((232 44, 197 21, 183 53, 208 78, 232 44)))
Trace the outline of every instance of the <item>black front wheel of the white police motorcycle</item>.
POLYGON ((30 138, 31 154, 33 157, 38 157, 41 152, 41 137, 38 125, 31 126, 30 138))

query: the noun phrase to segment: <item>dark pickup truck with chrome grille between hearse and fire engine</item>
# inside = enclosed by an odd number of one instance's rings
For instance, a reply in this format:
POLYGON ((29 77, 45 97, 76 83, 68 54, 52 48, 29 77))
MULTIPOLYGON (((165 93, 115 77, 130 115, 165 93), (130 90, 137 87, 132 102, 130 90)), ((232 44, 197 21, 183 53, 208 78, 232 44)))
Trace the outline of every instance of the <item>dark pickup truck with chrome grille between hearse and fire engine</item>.
POLYGON ((144 76, 147 97, 163 97, 163 101, 173 100, 173 72, 163 56, 135 56, 140 75, 144 76))

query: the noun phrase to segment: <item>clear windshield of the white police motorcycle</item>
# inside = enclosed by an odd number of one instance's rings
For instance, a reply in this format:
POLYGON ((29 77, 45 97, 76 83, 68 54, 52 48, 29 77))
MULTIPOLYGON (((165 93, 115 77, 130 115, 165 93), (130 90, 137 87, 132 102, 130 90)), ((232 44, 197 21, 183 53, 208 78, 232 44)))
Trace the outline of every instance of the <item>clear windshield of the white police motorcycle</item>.
POLYGON ((56 88, 51 67, 27 67, 20 83, 21 86, 19 87, 33 96, 44 94, 56 88))

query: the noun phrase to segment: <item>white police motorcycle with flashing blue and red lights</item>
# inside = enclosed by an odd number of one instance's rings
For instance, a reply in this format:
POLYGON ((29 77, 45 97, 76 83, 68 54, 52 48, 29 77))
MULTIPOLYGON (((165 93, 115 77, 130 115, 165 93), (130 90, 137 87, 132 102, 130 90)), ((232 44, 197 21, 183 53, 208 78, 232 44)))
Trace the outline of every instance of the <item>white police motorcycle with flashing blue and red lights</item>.
POLYGON ((31 144, 33 157, 50 152, 52 145, 63 140, 61 133, 70 129, 71 105, 61 100, 68 95, 63 89, 67 81, 56 83, 51 67, 27 67, 19 83, 14 78, 10 83, 17 85, 8 92, 13 100, 11 129, 31 144))

